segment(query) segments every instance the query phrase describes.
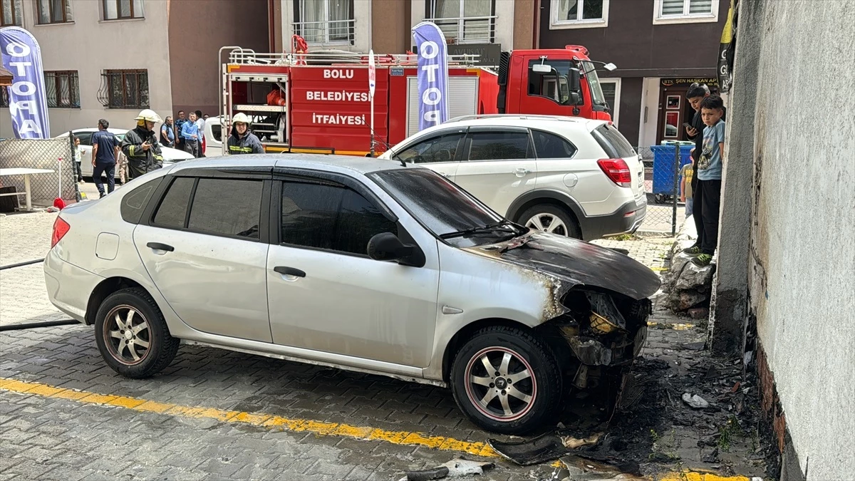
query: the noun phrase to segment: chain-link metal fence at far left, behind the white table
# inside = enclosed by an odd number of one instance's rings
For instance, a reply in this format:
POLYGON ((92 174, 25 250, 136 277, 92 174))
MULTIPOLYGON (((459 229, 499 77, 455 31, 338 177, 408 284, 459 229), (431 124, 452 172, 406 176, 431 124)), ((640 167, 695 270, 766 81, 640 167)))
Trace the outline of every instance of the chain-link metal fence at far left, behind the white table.
MULTIPOLYGON (((50 206, 60 194, 62 175, 62 199, 76 199, 74 184, 74 156, 68 138, 34 140, 0 140, 0 169, 49 169, 52 173, 30 175, 32 205, 50 206), (62 159, 62 160, 60 160, 62 159)), ((0 176, 0 186, 15 186, 16 192, 24 192, 23 175, 0 176)), ((24 208, 24 196, 18 196, 18 204, 24 208)))

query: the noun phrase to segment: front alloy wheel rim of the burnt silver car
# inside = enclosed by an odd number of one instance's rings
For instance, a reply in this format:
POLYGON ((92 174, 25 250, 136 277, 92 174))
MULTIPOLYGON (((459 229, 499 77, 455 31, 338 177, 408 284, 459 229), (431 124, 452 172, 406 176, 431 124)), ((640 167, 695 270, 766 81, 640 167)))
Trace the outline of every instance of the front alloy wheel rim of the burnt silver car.
POLYGON ((466 366, 466 394, 484 416, 497 421, 520 419, 534 406, 537 381, 528 361, 506 347, 487 347, 466 366))

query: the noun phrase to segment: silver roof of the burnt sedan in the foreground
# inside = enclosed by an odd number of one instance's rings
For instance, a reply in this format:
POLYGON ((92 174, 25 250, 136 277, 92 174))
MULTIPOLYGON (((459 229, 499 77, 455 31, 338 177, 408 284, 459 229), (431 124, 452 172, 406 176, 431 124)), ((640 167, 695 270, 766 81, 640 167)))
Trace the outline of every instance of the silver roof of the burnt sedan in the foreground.
POLYGON ((368 174, 380 170, 394 169, 422 169, 421 167, 412 166, 403 167, 400 163, 392 160, 369 157, 282 153, 246 154, 198 159, 188 163, 175 163, 170 172, 179 172, 184 169, 217 169, 228 167, 292 167, 350 174, 368 174))

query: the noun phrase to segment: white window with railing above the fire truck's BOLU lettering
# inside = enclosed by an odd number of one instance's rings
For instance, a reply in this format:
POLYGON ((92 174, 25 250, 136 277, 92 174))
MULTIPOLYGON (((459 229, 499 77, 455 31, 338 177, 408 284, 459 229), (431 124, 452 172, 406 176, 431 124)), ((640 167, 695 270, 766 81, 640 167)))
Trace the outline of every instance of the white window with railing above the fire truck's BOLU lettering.
POLYGON ((313 45, 353 45, 353 0, 294 2, 294 33, 313 45))

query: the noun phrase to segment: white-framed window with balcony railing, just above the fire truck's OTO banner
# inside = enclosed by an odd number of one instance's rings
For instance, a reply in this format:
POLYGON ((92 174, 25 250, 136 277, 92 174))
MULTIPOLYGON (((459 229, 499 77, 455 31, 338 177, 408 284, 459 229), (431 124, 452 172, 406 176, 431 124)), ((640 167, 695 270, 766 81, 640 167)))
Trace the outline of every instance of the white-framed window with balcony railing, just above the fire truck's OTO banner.
POLYGON ((449 44, 492 44, 495 40, 494 0, 431 0, 428 21, 442 30, 449 44))

